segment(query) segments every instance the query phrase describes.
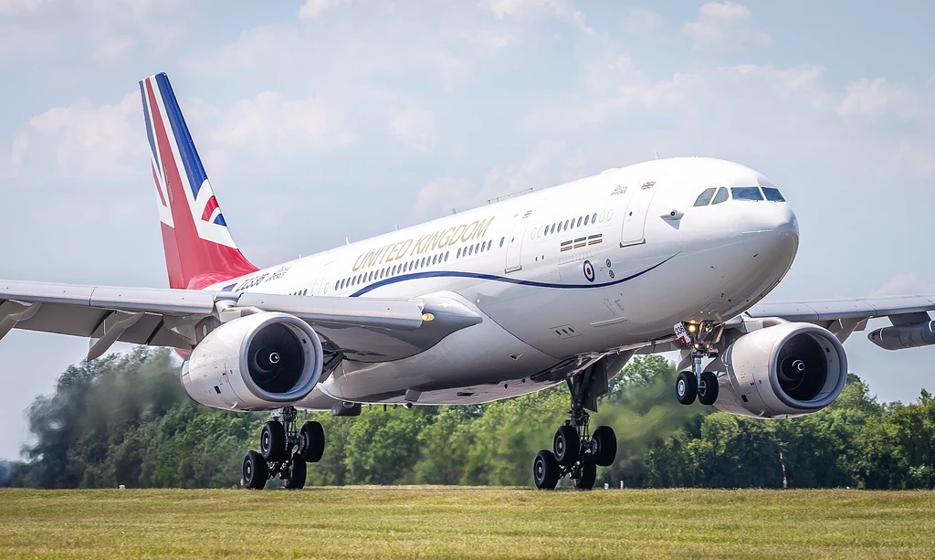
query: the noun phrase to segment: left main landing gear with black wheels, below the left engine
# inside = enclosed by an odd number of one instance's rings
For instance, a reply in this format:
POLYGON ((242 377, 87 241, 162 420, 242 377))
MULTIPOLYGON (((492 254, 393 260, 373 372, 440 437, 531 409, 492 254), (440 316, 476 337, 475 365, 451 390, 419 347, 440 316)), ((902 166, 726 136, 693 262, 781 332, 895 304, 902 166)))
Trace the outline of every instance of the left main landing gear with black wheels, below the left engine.
POLYGON ((261 489, 268 479, 279 475, 285 487, 298 490, 305 486, 306 466, 317 463, 324 453, 322 424, 307 422, 295 432, 295 407, 286 407, 263 425, 260 451, 249 451, 243 458, 243 483, 261 489))

